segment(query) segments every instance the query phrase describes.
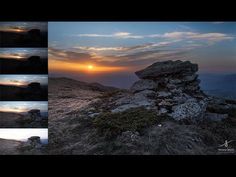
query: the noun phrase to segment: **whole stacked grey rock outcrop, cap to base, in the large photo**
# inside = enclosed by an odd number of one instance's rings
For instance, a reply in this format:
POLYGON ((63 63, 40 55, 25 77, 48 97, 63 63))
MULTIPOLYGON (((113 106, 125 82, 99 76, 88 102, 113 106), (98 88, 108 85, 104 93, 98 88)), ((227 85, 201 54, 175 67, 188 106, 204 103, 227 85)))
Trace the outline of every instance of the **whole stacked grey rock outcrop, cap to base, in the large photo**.
POLYGON ((157 114, 167 114, 175 120, 200 120, 207 107, 207 97, 200 90, 198 65, 189 61, 156 62, 137 71, 140 80, 114 103, 112 112, 145 107, 157 114))

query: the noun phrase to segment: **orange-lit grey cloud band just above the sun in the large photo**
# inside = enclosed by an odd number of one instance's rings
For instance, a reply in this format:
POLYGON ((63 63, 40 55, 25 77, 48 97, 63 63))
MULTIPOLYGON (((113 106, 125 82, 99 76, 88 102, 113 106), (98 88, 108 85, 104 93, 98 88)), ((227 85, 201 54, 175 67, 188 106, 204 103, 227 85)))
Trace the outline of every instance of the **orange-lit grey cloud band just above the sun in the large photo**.
MULTIPOLYGON (((151 45, 151 44, 149 44, 151 45)), ((148 46, 148 45, 147 45, 148 46)), ((137 46, 133 46, 136 48, 137 46)), ((140 47, 138 47, 140 48, 140 47)), ((110 67, 127 67, 129 70, 136 70, 140 66, 151 64, 159 60, 175 60, 183 59, 186 51, 183 50, 137 50, 136 52, 128 52, 125 55, 102 55, 96 53, 82 53, 71 51, 74 49, 61 50, 49 48, 50 62, 53 60, 62 61, 66 63, 86 64, 94 63, 99 66, 110 67)))

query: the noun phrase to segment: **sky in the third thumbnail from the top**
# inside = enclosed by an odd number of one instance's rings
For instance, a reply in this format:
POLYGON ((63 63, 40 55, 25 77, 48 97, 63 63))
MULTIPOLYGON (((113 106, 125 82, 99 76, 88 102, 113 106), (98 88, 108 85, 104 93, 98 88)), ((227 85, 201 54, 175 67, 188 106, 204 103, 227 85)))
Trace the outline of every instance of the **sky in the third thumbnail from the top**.
POLYGON ((26 86, 31 82, 48 84, 47 75, 0 75, 0 85, 26 86))

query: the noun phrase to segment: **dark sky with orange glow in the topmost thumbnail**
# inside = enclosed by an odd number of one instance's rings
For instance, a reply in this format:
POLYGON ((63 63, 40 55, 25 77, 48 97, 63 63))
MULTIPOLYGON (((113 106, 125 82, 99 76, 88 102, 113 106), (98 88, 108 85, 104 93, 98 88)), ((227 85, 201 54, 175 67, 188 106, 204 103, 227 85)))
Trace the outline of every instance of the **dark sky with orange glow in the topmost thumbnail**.
POLYGON ((46 32, 47 22, 0 22, 0 31, 21 33, 31 29, 46 32))

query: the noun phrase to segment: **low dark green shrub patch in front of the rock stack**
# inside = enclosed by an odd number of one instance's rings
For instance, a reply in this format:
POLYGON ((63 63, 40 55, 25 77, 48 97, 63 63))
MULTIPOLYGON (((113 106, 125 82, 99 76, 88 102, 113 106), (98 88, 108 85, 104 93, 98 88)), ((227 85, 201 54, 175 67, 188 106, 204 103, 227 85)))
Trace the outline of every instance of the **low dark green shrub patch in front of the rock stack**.
POLYGON ((158 117, 152 110, 139 107, 121 113, 102 113, 95 118, 93 124, 106 138, 114 138, 125 131, 141 132, 162 121, 163 118, 163 116, 158 117))

